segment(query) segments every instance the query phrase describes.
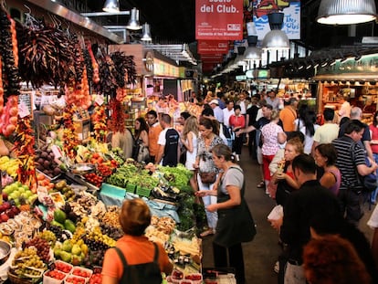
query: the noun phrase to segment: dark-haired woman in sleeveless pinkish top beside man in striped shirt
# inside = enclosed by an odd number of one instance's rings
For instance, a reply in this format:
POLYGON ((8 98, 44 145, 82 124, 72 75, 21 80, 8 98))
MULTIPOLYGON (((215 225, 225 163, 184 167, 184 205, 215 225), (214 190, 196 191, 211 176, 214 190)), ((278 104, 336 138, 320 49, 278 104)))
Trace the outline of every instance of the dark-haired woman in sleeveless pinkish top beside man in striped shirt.
POLYGON ((320 144, 315 148, 314 159, 315 163, 324 171, 320 177, 320 184, 337 196, 341 185, 341 173, 335 165, 336 148, 331 143, 320 144))

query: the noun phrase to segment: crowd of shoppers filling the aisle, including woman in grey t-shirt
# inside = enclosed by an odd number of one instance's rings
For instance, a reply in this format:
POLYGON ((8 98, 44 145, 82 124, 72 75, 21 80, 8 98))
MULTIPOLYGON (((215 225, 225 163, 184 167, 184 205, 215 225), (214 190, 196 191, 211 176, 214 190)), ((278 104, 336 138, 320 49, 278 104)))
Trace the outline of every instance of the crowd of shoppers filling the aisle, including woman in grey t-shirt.
POLYGON ((193 93, 190 101, 203 111, 199 117, 181 112, 180 127, 160 110, 135 121, 132 157, 183 163, 194 173, 191 185, 207 219, 200 237, 214 235, 215 266, 235 267, 238 284, 245 282, 241 243, 256 234, 238 165, 244 145, 259 164, 256 186, 282 207, 281 216, 269 219, 282 245, 278 283, 336 283, 341 274, 340 283, 378 283, 378 207, 369 221, 372 248, 358 229, 362 201, 375 205, 378 193, 363 183, 378 174, 378 111, 367 125, 348 100, 342 97, 339 111, 318 115, 305 100, 282 100, 274 90, 253 97, 247 90, 193 93), (142 147, 148 157, 139 154, 142 147), (355 275, 348 274, 351 266, 355 275))

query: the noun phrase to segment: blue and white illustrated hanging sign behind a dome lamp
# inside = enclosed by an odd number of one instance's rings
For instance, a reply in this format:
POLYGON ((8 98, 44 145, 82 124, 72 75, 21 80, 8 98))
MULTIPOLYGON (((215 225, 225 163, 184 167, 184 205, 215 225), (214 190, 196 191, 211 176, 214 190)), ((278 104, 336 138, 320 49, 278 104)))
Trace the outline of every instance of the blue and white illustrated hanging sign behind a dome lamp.
POLYGON ((282 31, 289 39, 300 39, 300 0, 253 0, 253 22, 259 40, 270 31, 268 14, 272 12, 285 14, 282 31))

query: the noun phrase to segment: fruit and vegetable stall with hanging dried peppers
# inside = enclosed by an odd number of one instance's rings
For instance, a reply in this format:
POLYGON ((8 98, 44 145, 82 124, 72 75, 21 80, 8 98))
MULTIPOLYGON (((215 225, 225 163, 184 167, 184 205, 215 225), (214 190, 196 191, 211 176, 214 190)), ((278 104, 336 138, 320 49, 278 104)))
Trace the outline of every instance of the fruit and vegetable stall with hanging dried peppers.
POLYGON ((122 236, 121 202, 141 197, 152 211, 146 236, 174 264, 164 281, 200 283, 205 210, 191 172, 136 163, 107 142, 126 129, 135 64, 90 40, 0 8, 0 282, 100 283, 104 253, 122 236))

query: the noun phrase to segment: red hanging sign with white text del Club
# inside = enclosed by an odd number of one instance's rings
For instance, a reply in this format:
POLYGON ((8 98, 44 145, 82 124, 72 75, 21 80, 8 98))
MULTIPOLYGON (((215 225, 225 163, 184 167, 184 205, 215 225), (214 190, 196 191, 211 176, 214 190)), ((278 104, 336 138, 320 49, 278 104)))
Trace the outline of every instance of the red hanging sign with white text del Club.
POLYGON ((243 0, 196 0, 195 39, 243 38, 243 0))

